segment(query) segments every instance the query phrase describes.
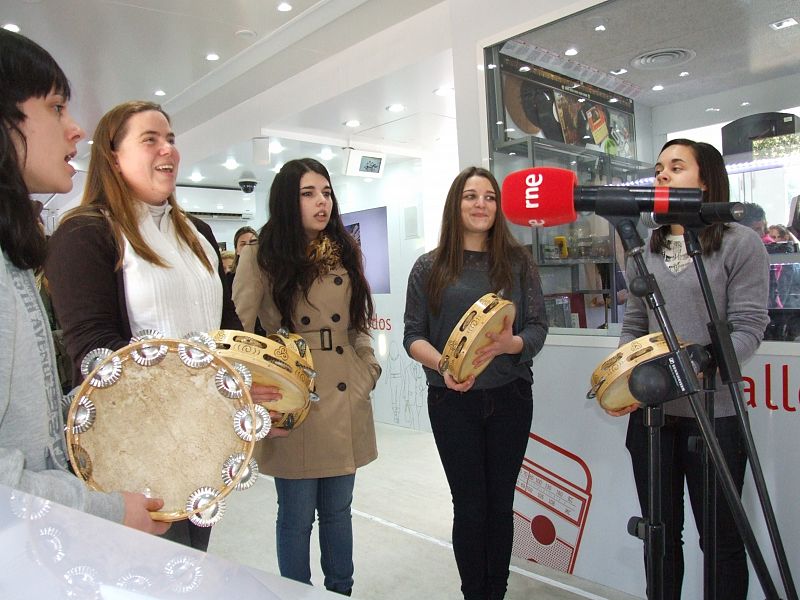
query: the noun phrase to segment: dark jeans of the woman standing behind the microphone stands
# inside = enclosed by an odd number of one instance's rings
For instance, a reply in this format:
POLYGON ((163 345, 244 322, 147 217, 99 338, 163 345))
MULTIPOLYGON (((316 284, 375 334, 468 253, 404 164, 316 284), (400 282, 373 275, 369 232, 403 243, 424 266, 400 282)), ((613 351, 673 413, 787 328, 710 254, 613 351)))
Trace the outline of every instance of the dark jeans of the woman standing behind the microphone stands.
MULTIPOLYGON (((642 514, 647 515, 648 468, 647 427, 643 423, 644 410, 631 413, 625 445, 631 453, 633 476, 642 514)), ((728 464, 736 489, 741 497, 744 473, 747 468, 744 439, 739 429, 738 417, 714 419, 714 428, 725 462, 728 464)), ((703 548, 703 511, 708 502, 703 493, 702 453, 689 449, 689 438, 702 440, 697 421, 691 417, 666 417, 661 428, 661 512, 664 522, 664 599, 681 597, 683 584, 683 484, 689 489, 692 513, 700 533, 703 548)), ((710 460, 710 458, 709 458, 710 460)), ((712 467, 713 468, 713 467, 712 467)), ((717 480, 717 598, 736 600, 747 597, 747 555, 744 542, 728 502, 717 480)), ((646 550, 646 548, 645 548, 646 550)))

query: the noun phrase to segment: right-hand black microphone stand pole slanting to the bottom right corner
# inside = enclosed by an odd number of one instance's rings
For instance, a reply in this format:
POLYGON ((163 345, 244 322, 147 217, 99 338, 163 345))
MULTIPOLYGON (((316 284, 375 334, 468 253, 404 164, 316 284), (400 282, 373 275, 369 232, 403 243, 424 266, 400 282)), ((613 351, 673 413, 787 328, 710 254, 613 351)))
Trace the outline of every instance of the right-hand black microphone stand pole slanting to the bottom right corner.
MULTIPOLYGON (((747 458, 750 461, 750 469, 753 473, 753 481, 755 483, 756 491, 758 493, 758 498, 761 504, 761 510, 764 515, 764 520, 766 521, 767 524, 767 530, 769 532, 770 542, 772 544, 772 549, 775 554, 776 561, 778 563, 778 570, 780 572, 784 590, 786 591, 787 597, 790 600, 797 600, 797 590, 795 588, 794 581, 792 580, 791 571, 789 570, 789 564, 786 558, 786 551, 783 547, 783 541, 781 540, 781 535, 778 529, 777 520, 775 519, 775 513, 772 509, 772 503, 770 501, 769 492, 767 490, 767 484, 764 479, 764 472, 761 468, 761 462, 758 458, 755 442, 753 441, 753 434, 752 431, 750 430, 750 420, 747 415, 747 411, 745 409, 744 399, 742 398, 742 390, 741 387, 739 386, 739 384, 742 382, 742 373, 739 367, 739 361, 736 358, 736 353, 733 348, 733 341, 731 340, 730 328, 728 326, 728 322, 723 319, 720 319, 719 317, 719 313, 717 311, 717 307, 714 302, 713 292, 711 291, 711 285, 709 284, 708 276, 705 270, 705 265, 703 263, 702 247, 700 245, 700 240, 698 238, 698 231, 700 231, 702 228, 703 227, 694 225, 684 226, 683 237, 684 240, 686 241, 687 253, 692 258, 692 262, 694 263, 695 271, 697 272, 697 278, 700 282, 700 289, 703 293, 703 299, 706 304, 706 310, 708 311, 708 315, 710 318, 707 327, 709 335, 711 337, 712 354, 714 359, 716 360, 716 364, 718 365, 722 382, 728 386, 728 389, 731 392, 733 405, 734 408, 736 409, 736 415, 739 419, 739 428, 741 429, 742 437, 744 438, 745 442, 745 453, 747 454, 747 458)), ((704 381, 704 386, 705 386, 705 381, 704 381)), ((711 406, 713 406, 713 404, 711 406)), ((737 500, 739 501, 738 502, 739 506, 741 506, 741 500, 739 499, 738 494, 736 495, 736 497, 737 500)), ((712 498, 712 496, 707 496, 707 498, 712 498)), ((734 512, 733 505, 731 505, 731 511, 734 512)), ((746 518, 743 509, 741 513, 742 516, 746 518)), ((735 512, 734 512, 734 519, 736 519, 735 512)), ((738 526, 739 523, 737 522, 737 527, 738 526)), ((742 533, 741 527, 739 527, 739 532, 742 533)), ((742 537, 744 538, 744 535, 742 535, 742 537)), ((708 546, 707 543, 706 546, 708 546)), ((750 549, 748 548, 748 553, 749 552, 750 549)), ((757 567, 755 561, 753 561, 753 566, 757 567)), ((766 569, 766 566, 764 566, 764 569, 766 569)), ((759 575, 759 579, 761 579, 761 575, 759 575)))

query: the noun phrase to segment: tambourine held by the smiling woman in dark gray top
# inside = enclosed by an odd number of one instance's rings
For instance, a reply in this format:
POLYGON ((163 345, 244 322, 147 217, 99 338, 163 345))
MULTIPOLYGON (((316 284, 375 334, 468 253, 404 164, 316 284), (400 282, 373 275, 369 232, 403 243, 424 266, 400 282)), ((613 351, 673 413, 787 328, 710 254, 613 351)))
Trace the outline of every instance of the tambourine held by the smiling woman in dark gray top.
POLYGON ((486 294, 469 307, 455 326, 442 350, 439 360, 439 371, 448 371, 458 382, 470 375, 477 377, 483 373, 491 361, 476 367, 472 364, 475 352, 491 343, 487 333, 500 333, 503 319, 514 320, 516 309, 514 304, 504 300, 497 294, 486 294))

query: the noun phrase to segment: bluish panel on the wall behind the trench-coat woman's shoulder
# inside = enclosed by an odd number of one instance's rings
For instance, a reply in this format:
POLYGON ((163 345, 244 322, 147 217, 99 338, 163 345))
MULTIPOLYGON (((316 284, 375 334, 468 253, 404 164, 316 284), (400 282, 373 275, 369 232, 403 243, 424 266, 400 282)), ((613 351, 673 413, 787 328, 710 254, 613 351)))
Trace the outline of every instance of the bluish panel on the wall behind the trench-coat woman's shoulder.
POLYGON ((370 208, 342 215, 342 222, 364 255, 364 273, 373 294, 391 293, 389 283, 389 236, 386 207, 370 208))

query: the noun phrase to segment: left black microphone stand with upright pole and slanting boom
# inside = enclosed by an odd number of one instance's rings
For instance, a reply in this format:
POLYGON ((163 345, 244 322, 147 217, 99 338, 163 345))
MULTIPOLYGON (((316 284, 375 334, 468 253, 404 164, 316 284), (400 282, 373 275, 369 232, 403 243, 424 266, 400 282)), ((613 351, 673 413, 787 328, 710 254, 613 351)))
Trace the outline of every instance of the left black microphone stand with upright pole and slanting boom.
MULTIPOLYGON (((600 207, 598 207, 600 208, 600 207)), ((608 208, 608 207, 607 207, 608 208)), ((634 207, 635 208, 635 207, 634 207)), ((764 590, 768 600, 778 599, 778 592, 772 582, 769 571, 767 570, 764 557, 758 547, 758 543, 753 534, 753 530, 747 521, 747 515, 744 512, 741 499, 736 492, 736 486, 733 478, 731 477, 725 458, 722 454, 719 442, 714 435, 711 422, 708 415, 703 410, 700 404, 699 394, 700 389, 697 375, 691 366, 688 352, 682 349, 678 342, 675 330, 672 327, 669 317, 664 308, 664 299, 661 291, 658 288, 658 283, 655 277, 648 271, 647 265, 642 256, 644 250, 644 242, 641 236, 636 231, 636 221, 638 214, 603 214, 600 210, 596 211, 597 214, 605 217, 617 230, 620 239, 622 240, 623 247, 626 254, 631 257, 635 264, 639 276, 630 282, 629 288, 631 293, 645 297, 649 308, 653 311, 656 320, 658 321, 664 340, 667 347, 670 349, 669 374, 674 378, 675 384, 678 389, 678 395, 689 396, 689 401, 692 406, 692 411, 697 419, 700 432, 702 433, 703 440, 705 441, 706 448, 711 454, 714 467, 717 471, 717 476, 720 479, 722 490, 731 507, 736 527, 739 530, 742 539, 744 540, 745 547, 747 548, 750 560, 753 563, 756 574, 758 575, 761 587, 764 590)), ((608 211, 612 212, 612 211, 608 211)), ((620 211, 621 213, 622 211, 620 211)), ((628 212, 630 212, 628 210, 628 212)), ((721 337, 721 336, 720 336, 721 337)), ((732 353, 733 345, 728 336, 728 350, 732 353)), ((735 359, 735 354, 733 354, 735 359)), ((649 361, 652 362, 652 361, 649 361)), ((644 363, 643 365, 646 365, 644 363)), ((638 365, 633 373, 629 387, 631 392, 634 393, 636 383, 637 369, 640 373, 644 373, 640 369, 643 365, 638 365)), ((638 378, 644 379, 644 377, 638 378)), ((645 386, 646 387, 646 386, 645 386)), ((637 537, 642 537, 645 541, 647 548, 646 561, 647 561, 647 597, 648 600, 662 600, 663 598, 663 559, 664 559, 664 524, 661 521, 661 467, 660 467, 660 427, 663 425, 663 410, 660 404, 674 397, 653 398, 653 397, 639 397, 634 393, 634 397, 645 405, 644 422, 649 427, 648 434, 648 515, 643 522, 637 523, 634 518, 628 523, 628 531, 637 537)), ((791 593, 791 592, 790 592, 791 593)), ((795 597, 792 598, 794 600, 795 597)))

